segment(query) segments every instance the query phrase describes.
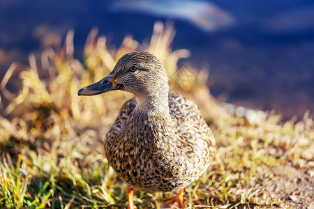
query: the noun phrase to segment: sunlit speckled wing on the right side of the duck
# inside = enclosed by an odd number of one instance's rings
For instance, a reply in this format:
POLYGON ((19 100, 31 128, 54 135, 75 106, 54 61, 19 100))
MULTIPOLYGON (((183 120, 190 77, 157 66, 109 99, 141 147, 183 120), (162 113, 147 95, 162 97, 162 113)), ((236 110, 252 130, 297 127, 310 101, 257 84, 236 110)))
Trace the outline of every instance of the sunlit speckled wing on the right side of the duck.
POLYGON ((192 100, 175 94, 170 94, 169 104, 170 116, 178 124, 177 153, 185 158, 186 169, 206 169, 214 156, 215 139, 200 109, 192 100))

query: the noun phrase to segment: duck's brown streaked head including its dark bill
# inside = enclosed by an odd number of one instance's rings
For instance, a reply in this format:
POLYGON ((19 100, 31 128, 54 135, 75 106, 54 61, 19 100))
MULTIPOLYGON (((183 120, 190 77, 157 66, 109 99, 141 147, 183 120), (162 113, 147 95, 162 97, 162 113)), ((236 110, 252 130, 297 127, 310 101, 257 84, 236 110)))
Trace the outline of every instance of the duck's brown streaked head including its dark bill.
POLYGON ((130 52, 119 59, 109 75, 78 91, 78 95, 98 95, 121 89, 133 93, 138 102, 160 99, 169 90, 165 67, 149 52, 130 52))

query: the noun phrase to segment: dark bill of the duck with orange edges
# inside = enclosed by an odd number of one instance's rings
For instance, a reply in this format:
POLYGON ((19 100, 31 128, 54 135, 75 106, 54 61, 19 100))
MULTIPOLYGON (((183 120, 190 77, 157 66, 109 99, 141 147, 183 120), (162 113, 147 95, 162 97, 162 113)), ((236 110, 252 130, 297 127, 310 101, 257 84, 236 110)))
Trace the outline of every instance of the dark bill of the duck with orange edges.
POLYGON ((120 86, 114 82, 111 75, 107 75, 99 82, 85 86, 78 91, 78 95, 98 95, 107 91, 113 91, 119 89, 120 86))

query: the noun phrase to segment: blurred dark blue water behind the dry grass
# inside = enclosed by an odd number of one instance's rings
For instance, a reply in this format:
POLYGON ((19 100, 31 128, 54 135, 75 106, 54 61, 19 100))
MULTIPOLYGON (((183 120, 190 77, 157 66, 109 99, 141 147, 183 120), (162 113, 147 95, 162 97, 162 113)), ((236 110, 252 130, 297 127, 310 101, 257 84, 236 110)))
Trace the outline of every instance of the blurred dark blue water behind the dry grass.
MULTIPOLYGON (((211 94, 222 102, 270 110, 287 120, 314 112, 314 1, 0 1, 0 80, 13 61, 29 65, 75 32, 83 60, 87 35, 98 27, 108 47, 126 35, 149 40, 154 22, 174 25, 173 49, 209 70, 211 94)), ((7 86, 14 91, 13 84, 7 86)), ((313 118, 313 114, 312 114, 313 118)))

